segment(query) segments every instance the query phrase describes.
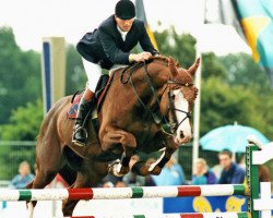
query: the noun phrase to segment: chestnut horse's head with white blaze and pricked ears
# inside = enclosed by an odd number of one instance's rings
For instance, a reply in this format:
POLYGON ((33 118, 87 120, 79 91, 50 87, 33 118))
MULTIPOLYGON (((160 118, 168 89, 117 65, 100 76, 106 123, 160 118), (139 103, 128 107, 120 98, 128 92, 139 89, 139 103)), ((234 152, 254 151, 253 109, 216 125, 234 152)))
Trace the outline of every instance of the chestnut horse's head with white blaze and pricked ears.
POLYGON ((193 76, 200 64, 200 59, 188 69, 178 68, 173 58, 169 58, 168 68, 171 73, 169 81, 170 92, 174 99, 173 112, 176 117, 176 137, 179 144, 191 140, 191 112, 195 100, 198 88, 193 84, 193 76))

